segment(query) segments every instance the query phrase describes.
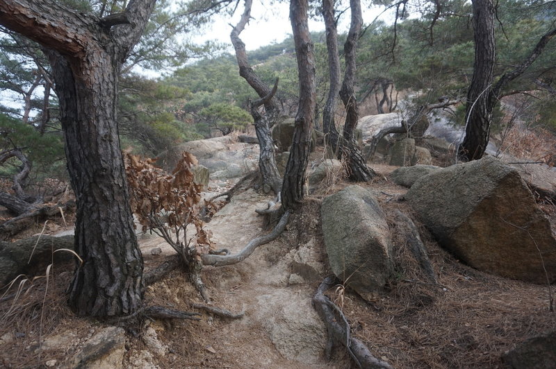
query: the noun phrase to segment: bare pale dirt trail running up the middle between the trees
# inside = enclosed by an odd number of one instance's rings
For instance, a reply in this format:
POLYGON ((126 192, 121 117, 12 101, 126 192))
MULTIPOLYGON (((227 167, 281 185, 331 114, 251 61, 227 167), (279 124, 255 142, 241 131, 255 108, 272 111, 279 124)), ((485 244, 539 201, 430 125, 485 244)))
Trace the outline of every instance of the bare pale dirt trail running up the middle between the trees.
MULTIPOLYGON (((234 196, 206 225, 213 233, 216 248, 228 248, 236 253, 264 232, 263 219, 254 210, 264 208, 270 199, 252 189, 234 196)), ((312 228, 315 233, 320 227, 314 221, 312 228)), ((343 359, 327 363, 322 358, 325 326, 311 307, 320 276, 309 274, 312 270, 324 273, 324 256, 311 230, 301 235, 304 244, 296 244, 299 240, 295 225, 291 225, 282 237, 260 246, 240 264, 204 268, 202 277, 213 304, 231 311, 245 311, 245 316, 239 320, 204 316, 203 321, 188 324, 190 329, 200 326, 206 332, 197 342, 205 350, 184 355, 183 365, 191 368, 349 367, 343 359), (304 276, 292 273, 294 269, 304 276)), ((158 237, 140 239, 140 246, 147 265, 174 252, 158 237), (155 247, 163 249, 162 255, 150 254, 155 247)), ((165 283, 181 288, 172 283, 172 278, 165 283)), ((158 289, 156 285, 154 288, 158 289)))

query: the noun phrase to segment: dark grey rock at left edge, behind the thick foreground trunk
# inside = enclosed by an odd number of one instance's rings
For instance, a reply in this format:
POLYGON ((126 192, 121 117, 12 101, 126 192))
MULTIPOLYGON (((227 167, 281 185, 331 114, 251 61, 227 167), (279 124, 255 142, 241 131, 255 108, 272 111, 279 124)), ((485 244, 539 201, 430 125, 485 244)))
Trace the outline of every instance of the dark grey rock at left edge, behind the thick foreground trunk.
POLYGON ((74 258, 71 252, 52 253, 59 248, 73 250, 74 237, 35 236, 15 242, 0 241, 0 286, 10 283, 20 274, 33 277, 46 273, 53 257, 55 264, 74 258))

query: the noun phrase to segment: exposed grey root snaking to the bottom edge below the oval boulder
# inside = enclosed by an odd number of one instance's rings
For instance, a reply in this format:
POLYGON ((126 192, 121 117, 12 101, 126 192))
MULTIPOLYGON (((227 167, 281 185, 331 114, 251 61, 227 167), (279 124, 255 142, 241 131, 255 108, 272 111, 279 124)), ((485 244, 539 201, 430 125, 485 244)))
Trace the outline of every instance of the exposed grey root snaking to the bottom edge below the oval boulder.
POLYGON ((350 324, 341 309, 324 294, 334 286, 334 280, 333 276, 326 277, 313 297, 313 307, 325 322, 328 331, 327 357, 330 357, 334 343, 341 343, 359 368, 392 369, 389 363, 374 357, 366 345, 350 336, 350 324))

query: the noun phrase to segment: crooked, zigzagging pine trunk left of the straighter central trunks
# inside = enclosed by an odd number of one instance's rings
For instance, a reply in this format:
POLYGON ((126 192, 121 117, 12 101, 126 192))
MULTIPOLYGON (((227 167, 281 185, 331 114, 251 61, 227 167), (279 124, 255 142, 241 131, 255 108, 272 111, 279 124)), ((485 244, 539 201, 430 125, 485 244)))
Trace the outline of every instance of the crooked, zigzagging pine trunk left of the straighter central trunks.
POLYGON ((272 191, 278 195, 282 180, 276 165, 275 148, 270 127, 274 125, 280 110, 272 98, 273 94, 271 94, 271 89, 259 76, 257 76, 250 66, 247 60, 245 44, 239 37, 240 33, 245 29, 245 25, 249 22, 252 3, 253 0, 245 0, 245 10, 238 24, 232 29, 230 39, 236 50, 236 59, 238 60, 240 76, 242 76, 255 92, 259 94, 259 98, 264 100, 264 114, 259 113, 259 105, 256 104, 251 104, 250 110, 254 119, 256 137, 259 139, 259 146, 261 148, 259 154, 259 169, 263 177, 263 190, 268 192, 272 189, 272 191), (268 98, 268 96, 270 96, 270 98, 268 98))

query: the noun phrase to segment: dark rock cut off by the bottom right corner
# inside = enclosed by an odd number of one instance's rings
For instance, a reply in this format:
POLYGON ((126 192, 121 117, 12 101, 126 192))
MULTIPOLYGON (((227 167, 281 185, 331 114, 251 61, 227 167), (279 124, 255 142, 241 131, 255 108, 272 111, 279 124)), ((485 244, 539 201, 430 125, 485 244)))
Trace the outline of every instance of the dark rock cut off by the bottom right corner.
POLYGON ((556 363, 556 332, 524 341, 514 350, 505 352, 502 360, 514 369, 553 369, 556 363))

